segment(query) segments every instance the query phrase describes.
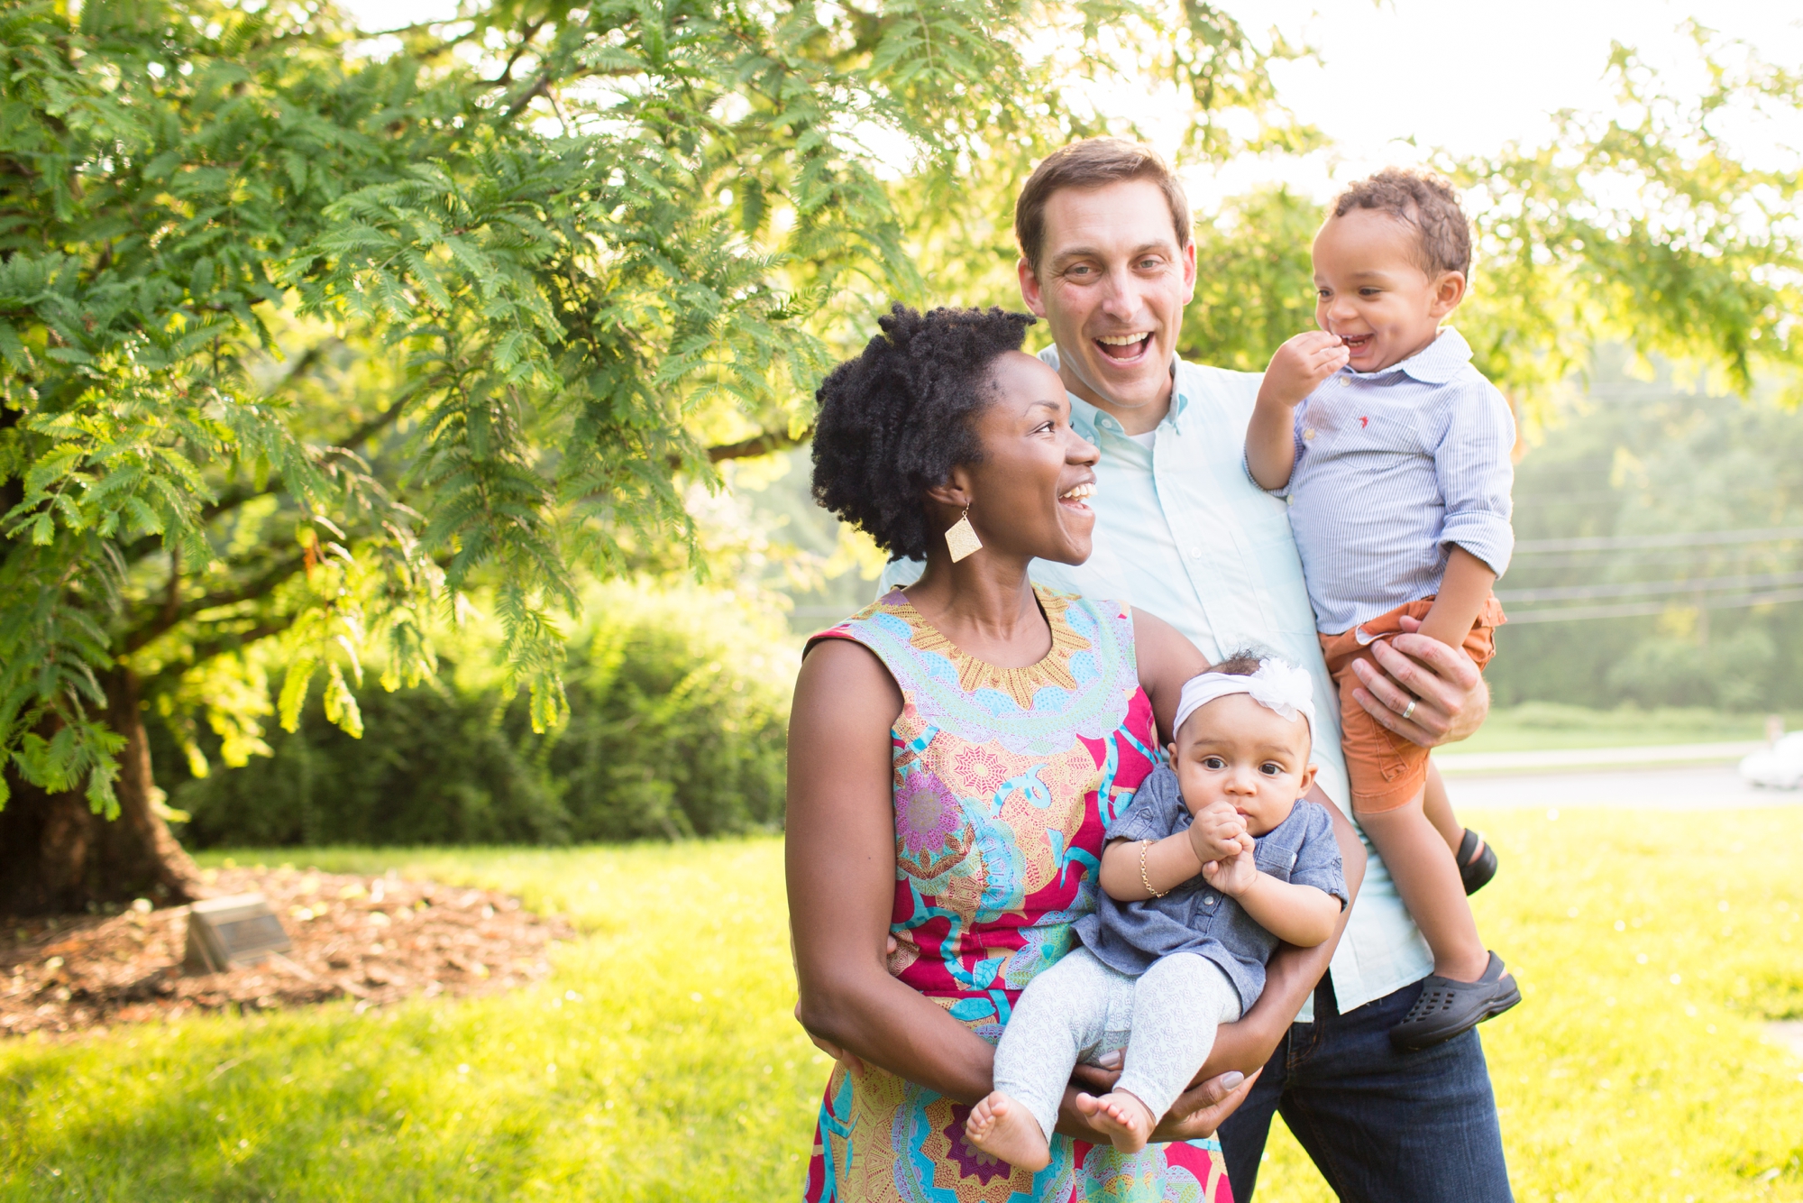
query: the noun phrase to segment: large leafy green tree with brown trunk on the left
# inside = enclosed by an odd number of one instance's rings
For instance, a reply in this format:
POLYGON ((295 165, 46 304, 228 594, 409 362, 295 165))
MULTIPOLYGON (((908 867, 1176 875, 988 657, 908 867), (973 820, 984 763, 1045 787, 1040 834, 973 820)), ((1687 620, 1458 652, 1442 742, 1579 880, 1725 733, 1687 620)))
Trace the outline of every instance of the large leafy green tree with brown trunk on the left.
POLYGON ((236 763, 323 682, 355 734, 364 666, 429 676, 478 593, 559 723, 581 577, 694 559, 683 482, 921 296, 909 188, 1058 137, 1037 31, 1168 27, 1199 114, 1269 94, 1174 0, 70 9, 0 11, 0 909, 186 895, 144 707, 236 763))

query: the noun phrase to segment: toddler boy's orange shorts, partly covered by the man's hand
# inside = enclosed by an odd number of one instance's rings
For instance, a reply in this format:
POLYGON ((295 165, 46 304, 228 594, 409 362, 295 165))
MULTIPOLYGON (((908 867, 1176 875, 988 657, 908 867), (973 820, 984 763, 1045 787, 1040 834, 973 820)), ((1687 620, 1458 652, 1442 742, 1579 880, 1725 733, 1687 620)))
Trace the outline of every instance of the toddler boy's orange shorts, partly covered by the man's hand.
MULTIPOLYGON (((1412 739, 1390 734, 1390 729, 1365 712, 1352 691, 1361 687, 1352 671, 1354 660, 1370 660, 1370 644, 1399 635, 1399 619, 1426 619, 1433 608, 1432 597, 1397 606, 1388 613, 1361 622, 1340 635, 1322 635, 1322 655, 1327 671, 1340 689, 1340 748, 1347 758, 1347 777, 1352 783, 1352 812, 1381 813, 1396 810, 1428 783, 1428 750, 1412 739)), ((1496 655, 1496 628, 1507 622, 1502 602, 1495 597, 1484 602, 1471 633, 1464 638, 1466 655, 1482 669, 1496 655)))

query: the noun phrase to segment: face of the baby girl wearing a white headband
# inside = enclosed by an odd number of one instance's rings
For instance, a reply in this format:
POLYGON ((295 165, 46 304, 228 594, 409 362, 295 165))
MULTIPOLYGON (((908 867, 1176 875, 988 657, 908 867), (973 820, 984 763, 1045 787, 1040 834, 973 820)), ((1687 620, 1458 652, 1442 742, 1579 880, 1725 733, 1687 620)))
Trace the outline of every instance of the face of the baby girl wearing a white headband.
POLYGON ((1190 813, 1228 801, 1246 830, 1264 835, 1289 817, 1314 785, 1309 765, 1309 721, 1284 718, 1242 693, 1201 707, 1170 745, 1183 804, 1190 813))

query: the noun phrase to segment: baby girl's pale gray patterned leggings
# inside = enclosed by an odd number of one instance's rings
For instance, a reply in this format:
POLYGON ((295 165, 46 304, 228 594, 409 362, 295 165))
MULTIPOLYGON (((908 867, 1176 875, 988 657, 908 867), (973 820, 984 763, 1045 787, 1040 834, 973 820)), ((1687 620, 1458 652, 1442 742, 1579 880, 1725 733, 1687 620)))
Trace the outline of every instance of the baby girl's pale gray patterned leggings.
POLYGON ((1026 1104, 1051 1138, 1076 1062, 1125 1046, 1114 1089, 1129 1091, 1158 1122, 1208 1061, 1215 1026, 1239 1019, 1239 1010, 1228 976, 1194 952, 1163 956, 1129 978, 1089 949, 1073 949, 1015 1003, 995 1046, 995 1089, 1026 1104))

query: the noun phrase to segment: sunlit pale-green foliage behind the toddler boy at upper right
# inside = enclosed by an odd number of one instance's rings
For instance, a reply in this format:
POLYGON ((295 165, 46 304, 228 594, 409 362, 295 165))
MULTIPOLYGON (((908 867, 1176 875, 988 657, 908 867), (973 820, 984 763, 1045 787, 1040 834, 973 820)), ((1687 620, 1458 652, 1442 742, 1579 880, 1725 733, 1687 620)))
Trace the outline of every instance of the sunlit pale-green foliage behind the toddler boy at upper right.
MULTIPOLYGON (((1617 115, 1561 112, 1545 146, 1433 159, 1471 200, 1473 287, 1455 325, 1529 411, 1603 344, 1715 372, 1742 395, 1756 368, 1803 363, 1803 162, 1781 141, 1803 115, 1803 78, 1689 29, 1704 94, 1673 94, 1615 45, 1617 115), (1754 162, 1724 128, 1776 148, 1754 162)), ((1257 372, 1313 328, 1323 218, 1307 197, 1260 189, 1201 222, 1183 354, 1257 372)))

